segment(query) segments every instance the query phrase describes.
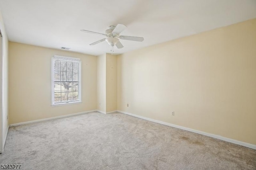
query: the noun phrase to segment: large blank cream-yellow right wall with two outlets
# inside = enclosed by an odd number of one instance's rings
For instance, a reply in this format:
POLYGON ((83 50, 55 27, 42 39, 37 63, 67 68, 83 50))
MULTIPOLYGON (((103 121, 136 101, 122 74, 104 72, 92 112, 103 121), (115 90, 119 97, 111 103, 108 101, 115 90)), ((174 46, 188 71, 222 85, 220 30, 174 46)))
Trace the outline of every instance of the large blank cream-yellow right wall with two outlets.
POLYGON ((118 110, 256 145, 256 19, 121 55, 118 110))

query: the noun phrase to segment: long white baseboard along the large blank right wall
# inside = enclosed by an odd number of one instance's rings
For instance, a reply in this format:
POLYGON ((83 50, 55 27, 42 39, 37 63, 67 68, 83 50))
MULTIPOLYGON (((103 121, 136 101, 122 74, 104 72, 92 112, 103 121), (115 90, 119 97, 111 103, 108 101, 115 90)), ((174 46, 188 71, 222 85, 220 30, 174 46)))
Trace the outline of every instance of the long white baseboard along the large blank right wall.
POLYGON ((204 136, 208 136, 208 137, 213 137, 215 139, 220 139, 222 141, 234 143, 234 144, 237 144, 237 145, 241 145, 243 147, 247 147, 247 148, 251 148, 251 149, 255 149, 256 150, 256 145, 253 145, 253 144, 250 144, 250 143, 245 143, 245 142, 242 142, 242 141, 237 141, 237 140, 226 138, 226 137, 222 137, 222 136, 219 136, 219 135, 214 135, 214 134, 211 134, 211 133, 206 133, 206 132, 198 131, 198 130, 195 130, 195 129, 190 129, 190 128, 187 128, 187 127, 183 127, 183 126, 179 126, 179 125, 174 125, 174 124, 167 123, 167 122, 164 122, 164 121, 150 119, 148 117, 143 117, 143 116, 135 115, 135 114, 128 113, 128 112, 125 112, 125 111, 118 110, 117 112, 124 113, 126 115, 130 115, 130 116, 134 116, 134 117, 138 117, 140 119, 145 119, 145 120, 148 120, 148 121, 152 121, 152 122, 155 122, 155 123, 160 123, 162 125, 167 125, 167 126, 170 126, 170 127, 175 127, 177 129, 182 129, 182 130, 185 130, 185 131, 189 131, 189 132, 193 132, 193 133, 198 133, 200 135, 204 135, 204 136))

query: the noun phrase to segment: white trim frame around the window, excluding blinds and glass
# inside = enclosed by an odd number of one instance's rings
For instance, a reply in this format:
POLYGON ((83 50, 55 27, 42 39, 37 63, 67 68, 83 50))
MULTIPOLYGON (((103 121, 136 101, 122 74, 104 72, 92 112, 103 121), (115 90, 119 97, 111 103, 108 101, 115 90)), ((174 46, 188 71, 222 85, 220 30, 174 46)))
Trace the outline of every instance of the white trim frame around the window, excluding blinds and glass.
POLYGON ((82 81, 81 81, 81 74, 82 74, 82 61, 80 58, 75 58, 75 57, 66 57, 66 56, 60 56, 60 55, 54 55, 52 57, 52 70, 51 70, 51 74, 52 74, 52 107, 55 107, 55 106, 64 106, 64 105, 71 105, 71 104, 80 104, 82 103, 82 81), (72 60, 78 60, 79 61, 79 69, 78 69, 78 74, 79 74, 79 77, 78 77, 78 101, 72 101, 72 102, 62 102, 62 103, 54 103, 54 59, 55 57, 58 57, 58 58, 62 58, 62 59, 72 59, 72 60))

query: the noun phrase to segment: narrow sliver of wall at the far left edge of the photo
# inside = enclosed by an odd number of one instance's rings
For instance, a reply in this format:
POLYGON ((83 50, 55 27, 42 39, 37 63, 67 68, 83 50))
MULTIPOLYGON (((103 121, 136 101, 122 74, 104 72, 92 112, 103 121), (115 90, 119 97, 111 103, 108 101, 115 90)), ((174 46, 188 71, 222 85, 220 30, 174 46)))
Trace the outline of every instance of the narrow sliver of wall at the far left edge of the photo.
MULTIPOLYGON (((2 117, 0 122, 2 122, 2 131, 0 135, 2 140, 0 141, 0 151, 4 149, 5 139, 8 133, 8 37, 4 27, 4 20, 2 18, 2 13, 0 10, 0 29, 2 32, 2 117), (1 121, 2 119, 2 121, 1 121)), ((0 123, 1 124, 1 123, 0 123)), ((0 128, 1 130, 1 128, 0 128)))

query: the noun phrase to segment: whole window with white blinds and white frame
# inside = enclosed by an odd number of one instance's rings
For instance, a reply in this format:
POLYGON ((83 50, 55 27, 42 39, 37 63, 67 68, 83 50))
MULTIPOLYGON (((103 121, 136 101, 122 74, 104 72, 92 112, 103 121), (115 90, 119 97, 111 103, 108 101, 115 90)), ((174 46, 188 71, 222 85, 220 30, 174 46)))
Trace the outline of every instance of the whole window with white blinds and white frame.
POLYGON ((52 57, 52 105, 81 102, 81 61, 52 57))

